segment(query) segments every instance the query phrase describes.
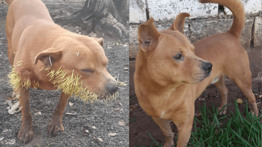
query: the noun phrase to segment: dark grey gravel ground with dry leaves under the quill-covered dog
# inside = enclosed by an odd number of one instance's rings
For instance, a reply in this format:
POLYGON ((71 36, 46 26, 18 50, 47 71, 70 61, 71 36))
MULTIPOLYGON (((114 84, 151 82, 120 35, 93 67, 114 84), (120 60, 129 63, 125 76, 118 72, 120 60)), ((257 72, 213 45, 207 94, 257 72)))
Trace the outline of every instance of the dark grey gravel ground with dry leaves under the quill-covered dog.
MULTIPOLYGON (((70 31, 84 32, 75 26, 66 27, 70 31)), ((109 59, 108 71, 114 77, 119 75, 119 81, 127 81, 129 85, 128 44, 119 46, 113 38, 105 37, 103 46, 109 59)), ((10 70, 7 57, 7 40, 5 33, 5 17, 0 18, 0 146, 29 146, 29 147, 62 147, 62 146, 92 146, 92 147, 124 147, 129 140, 129 86, 119 89, 119 97, 116 100, 103 103, 88 103, 70 98, 69 104, 63 114, 64 133, 56 136, 48 135, 47 125, 52 118, 54 109, 59 101, 60 92, 33 90, 30 91, 30 109, 33 117, 34 139, 28 144, 22 144, 17 139, 21 125, 21 113, 9 114, 5 104, 10 97, 12 89, 8 87, 7 74, 10 70), (40 115, 35 115, 41 112, 40 115), (88 130, 88 132, 86 132, 88 130), (109 136, 109 133, 117 133, 109 136), (99 139, 102 139, 101 141, 99 139), (10 145, 13 144, 13 145, 10 145), (48 145, 49 144, 49 145, 48 145)))

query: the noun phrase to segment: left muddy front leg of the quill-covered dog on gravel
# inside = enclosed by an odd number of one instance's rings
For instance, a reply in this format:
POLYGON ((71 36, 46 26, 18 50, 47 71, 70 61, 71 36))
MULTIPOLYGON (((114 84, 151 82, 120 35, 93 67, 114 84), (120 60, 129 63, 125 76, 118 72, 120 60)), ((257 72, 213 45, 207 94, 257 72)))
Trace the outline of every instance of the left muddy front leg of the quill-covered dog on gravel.
POLYGON ((33 139, 33 124, 32 124, 32 115, 30 111, 30 97, 29 97, 29 88, 26 89, 20 85, 16 90, 17 97, 20 102, 20 107, 22 107, 22 125, 20 131, 17 135, 18 139, 24 144, 27 144, 33 139))

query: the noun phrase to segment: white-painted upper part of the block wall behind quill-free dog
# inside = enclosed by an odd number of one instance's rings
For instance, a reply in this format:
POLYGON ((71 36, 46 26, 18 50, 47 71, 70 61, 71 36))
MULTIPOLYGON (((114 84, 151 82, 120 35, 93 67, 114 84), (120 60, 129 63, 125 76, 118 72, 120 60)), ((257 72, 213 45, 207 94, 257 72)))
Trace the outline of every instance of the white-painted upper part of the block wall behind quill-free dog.
MULTIPOLYGON (((247 14, 261 11, 261 0, 242 0, 247 14)), ((146 8, 149 17, 155 21, 174 19, 181 12, 190 13, 190 18, 216 17, 218 4, 199 3, 198 0, 130 0, 130 23, 146 21, 146 8)), ((226 8, 226 14, 232 13, 226 8)))

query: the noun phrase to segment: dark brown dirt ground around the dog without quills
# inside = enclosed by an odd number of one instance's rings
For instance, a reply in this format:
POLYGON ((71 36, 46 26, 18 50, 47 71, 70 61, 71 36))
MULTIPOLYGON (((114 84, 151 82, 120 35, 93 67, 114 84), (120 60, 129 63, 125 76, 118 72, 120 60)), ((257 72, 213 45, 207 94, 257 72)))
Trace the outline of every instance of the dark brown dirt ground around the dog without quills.
MULTIPOLYGON (((255 94, 255 96, 258 96, 261 94, 261 49, 246 49, 249 55, 249 62, 250 62, 250 70, 252 72, 252 91, 255 94)), ((131 65, 130 65, 130 74, 131 71, 131 65)), ((131 75, 130 75, 131 76, 131 75)), ((238 108, 240 112, 243 112, 245 110, 244 106, 247 102, 244 94, 240 91, 240 89, 236 86, 236 84, 230 80, 229 78, 225 79, 226 87, 228 88, 228 103, 233 104, 234 100, 236 98, 240 98, 243 100, 242 104, 238 104, 238 108)), ((139 106, 139 103, 137 101, 137 98, 134 94, 134 89, 132 89, 132 81, 130 78, 130 120, 135 119, 135 121, 129 122, 129 146, 130 147, 137 147, 139 145, 143 146, 150 146, 152 143, 151 138, 149 137, 148 131, 152 137, 159 143, 164 144, 164 136, 160 130, 160 128, 157 126, 157 124, 153 121, 151 116, 148 116, 144 110, 139 106), (137 107, 135 109, 132 109, 134 107, 137 107)), ((221 94, 215 87, 215 85, 210 85, 207 87, 206 95, 208 97, 205 98, 206 106, 209 110, 212 111, 212 102, 214 103, 215 107, 219 107, 221 102, 221 94)), ((204 98, 204 95, 201 95, 200 97, 204 98)), ((256 102, 259 103, 259 115, 261 115, 261 98, 257 98, 256 102)), ((199 113, 199 106, 203 106, 203 101, 199 101, 198 99, 195 101, 195 113, 199 113)), ((249 106, 249 103, 248 103, 249 106)), ((249 107, 250 109, 250 107, 249 107)), ((229 110, 232 112, 235 112, 234 105, 229 105, 227 107, 227 114, 229 114, 229 110)), ((250 110, 249 110, 250 111, 250 110)), ((201 116, 198 117, 200 119, 201 116)), ((197 127, 201 127, 199 124, 197 127)), ((171 123, 172 131, 177 134, 177 129, 174 123, 171 123)), ((192 131, 194 131, 194 125, 192 128, 192 131)))

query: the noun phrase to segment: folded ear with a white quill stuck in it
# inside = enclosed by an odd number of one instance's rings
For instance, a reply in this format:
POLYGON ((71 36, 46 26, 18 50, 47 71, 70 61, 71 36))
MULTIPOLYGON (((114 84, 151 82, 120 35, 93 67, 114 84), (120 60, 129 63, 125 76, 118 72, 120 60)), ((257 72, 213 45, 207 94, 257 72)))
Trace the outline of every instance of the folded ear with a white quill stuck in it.
POLYGON ((42 61, 48 69, 51 69, 54 66, 54 63, 59 60, 62 56, 62 51, 55 48, 49 48, 45 51, 38 53, 35 58, 35 65, 38 60, 42 61))

